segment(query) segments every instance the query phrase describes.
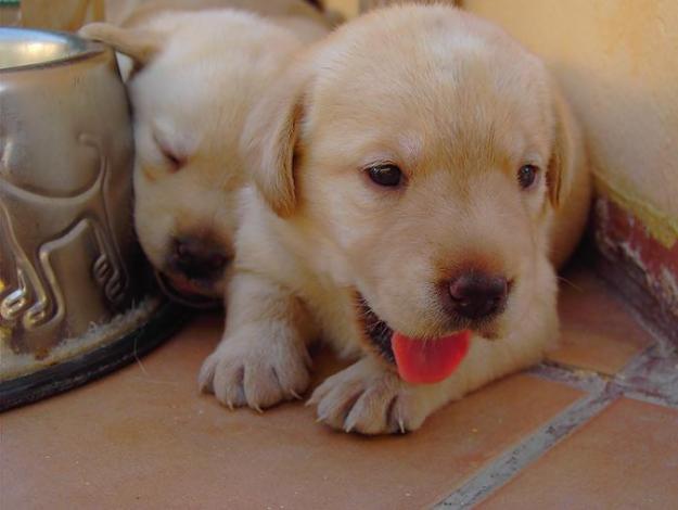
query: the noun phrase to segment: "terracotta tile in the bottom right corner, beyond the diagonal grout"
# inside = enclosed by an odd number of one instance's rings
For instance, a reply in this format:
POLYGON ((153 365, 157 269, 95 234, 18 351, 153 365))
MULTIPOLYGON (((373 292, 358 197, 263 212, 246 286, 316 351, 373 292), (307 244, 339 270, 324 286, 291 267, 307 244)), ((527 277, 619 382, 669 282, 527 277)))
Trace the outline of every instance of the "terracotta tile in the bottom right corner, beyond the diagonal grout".
POLYGON ((676 508, 678 412, 621 398, 481 505, 676 508))

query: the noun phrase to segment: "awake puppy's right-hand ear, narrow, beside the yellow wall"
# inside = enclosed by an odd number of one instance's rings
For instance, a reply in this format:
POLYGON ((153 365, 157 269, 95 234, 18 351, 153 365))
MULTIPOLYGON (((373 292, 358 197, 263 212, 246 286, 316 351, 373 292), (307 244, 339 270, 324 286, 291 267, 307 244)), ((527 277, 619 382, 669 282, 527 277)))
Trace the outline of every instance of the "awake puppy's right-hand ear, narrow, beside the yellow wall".
POLYGON ((553 150, 546 174, 549 200, 553 207, 570 193, 574 170, 583 164, 579 126, 561 92, 553 86, 553 150))

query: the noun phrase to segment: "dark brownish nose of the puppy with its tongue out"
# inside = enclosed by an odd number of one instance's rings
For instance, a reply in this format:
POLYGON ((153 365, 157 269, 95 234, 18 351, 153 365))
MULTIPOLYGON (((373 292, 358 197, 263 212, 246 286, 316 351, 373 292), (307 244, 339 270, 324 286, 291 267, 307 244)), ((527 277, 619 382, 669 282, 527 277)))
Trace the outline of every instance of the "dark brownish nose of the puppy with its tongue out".
POLYGON ((501 276, 465 272, 449 283, 452 309, 466 319, 483 319, 503 309, 509 284, 501 276))

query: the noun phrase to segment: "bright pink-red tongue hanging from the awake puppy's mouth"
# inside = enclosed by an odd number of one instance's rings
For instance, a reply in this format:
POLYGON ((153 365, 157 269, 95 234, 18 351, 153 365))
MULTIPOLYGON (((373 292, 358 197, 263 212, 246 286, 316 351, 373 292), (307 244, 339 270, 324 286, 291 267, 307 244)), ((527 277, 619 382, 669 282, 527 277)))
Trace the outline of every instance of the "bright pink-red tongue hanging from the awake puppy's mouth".
POLYGON ((391 346, 400 377, 413 384, 433 384, 447 379, 469 352, 471 331, 435 340, 410 339, 393 333, 391 346))

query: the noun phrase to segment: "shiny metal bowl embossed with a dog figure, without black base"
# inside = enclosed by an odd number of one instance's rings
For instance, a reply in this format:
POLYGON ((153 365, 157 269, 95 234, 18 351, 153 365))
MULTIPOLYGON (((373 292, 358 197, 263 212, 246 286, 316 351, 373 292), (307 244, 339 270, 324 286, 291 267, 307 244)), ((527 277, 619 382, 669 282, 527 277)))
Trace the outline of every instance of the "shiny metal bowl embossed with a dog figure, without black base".
POLYGON ((0 382, 110 343, 151 314, 125 317, 139 295, 132 156, 111 49, 0 28, 0 382))

